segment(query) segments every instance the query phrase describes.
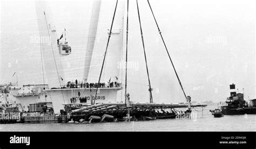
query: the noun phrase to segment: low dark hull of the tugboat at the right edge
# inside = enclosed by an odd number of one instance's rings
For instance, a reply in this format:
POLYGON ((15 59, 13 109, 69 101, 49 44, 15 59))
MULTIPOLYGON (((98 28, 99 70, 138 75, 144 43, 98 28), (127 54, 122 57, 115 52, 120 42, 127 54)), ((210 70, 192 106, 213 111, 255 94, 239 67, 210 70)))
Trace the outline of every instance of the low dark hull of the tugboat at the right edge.
POLYGON ((221 111, 224 115, 250 115, 256 114, 256 107, 231 109, 230 107, 223 106, 221 107, 221 111))

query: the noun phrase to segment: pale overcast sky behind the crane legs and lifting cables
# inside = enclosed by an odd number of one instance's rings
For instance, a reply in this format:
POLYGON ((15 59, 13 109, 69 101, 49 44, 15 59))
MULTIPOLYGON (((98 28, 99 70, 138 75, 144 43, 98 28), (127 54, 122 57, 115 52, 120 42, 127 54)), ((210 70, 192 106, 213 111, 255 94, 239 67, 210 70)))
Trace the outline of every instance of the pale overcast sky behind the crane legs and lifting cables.
MULTIPOLYGON (((115 2, 102 3, 102 9, 112 14, 115 2)), ((225 101, 230 95, 230 83, 237 84, 240 92, 244 88, 246 100, 248 96, 256 98, 255 4, 252 1, 150 2, 180 80, 192 100, 225 101)), ((90 17, 92 1, 49 1, 49 6, 56 27, 68 30, 73 58, 79 63, 79 54, 86 47, 84 32, 89 25, 86 18, 90 17)), ((139 0, 139 7, 153 99, 155 102, 184 102, 147 1, 139 0)), ((108 17, 106 20, 112 15, 108 17)), ((129 69, 128 90, 135 101, 149 102, 134 0, 130 0, 129 17, 129 61, 136 66, 129 69)), ((18 72, 19 85, 43 83, 39 46, 29 42, 31 37, 38 35, 35 2, 1 1, 0 33, 0 83, 15 82, 14 72, 18 72)), ((107 39, 107 35, 101 38, 107 39)), ((75 69, 70 78, 82 80, 82 73, 75 69)))

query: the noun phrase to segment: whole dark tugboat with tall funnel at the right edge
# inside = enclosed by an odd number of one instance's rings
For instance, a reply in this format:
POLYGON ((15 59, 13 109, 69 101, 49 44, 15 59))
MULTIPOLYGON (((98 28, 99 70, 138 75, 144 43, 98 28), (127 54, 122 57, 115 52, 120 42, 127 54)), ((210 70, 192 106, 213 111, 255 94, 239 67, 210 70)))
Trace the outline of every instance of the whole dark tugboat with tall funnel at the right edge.
POLYGON ((256 99, 250 100, 248 104, 244 100, 244 94, 237 93, 235 91, 235 84, 230 84, 230 97, 227 97, 226 104, 221 106, 221 111, 224 115, 244 115, 244 114, 256 114, 256 99))

